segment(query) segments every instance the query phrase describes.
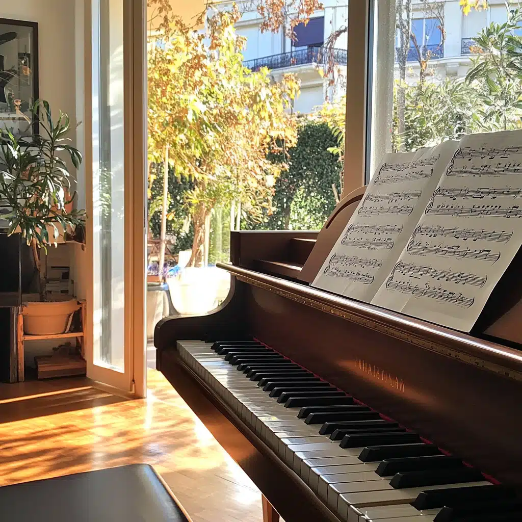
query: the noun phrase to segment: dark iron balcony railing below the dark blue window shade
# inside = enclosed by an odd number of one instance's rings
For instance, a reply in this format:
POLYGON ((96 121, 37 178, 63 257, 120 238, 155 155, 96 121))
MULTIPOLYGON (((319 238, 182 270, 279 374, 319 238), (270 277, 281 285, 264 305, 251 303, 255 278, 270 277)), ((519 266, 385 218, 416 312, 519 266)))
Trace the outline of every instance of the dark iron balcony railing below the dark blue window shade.
MULTIPOLYGON (((347 65, 348 52, 345 49, 334 49, 333 55, 335 64, 347 65)), ((243 62, 243 65, 256 72, 262 67, 284 69, 305 64, 324 64, 327 60, 322 47, 307 47, 293 49, 289 53, 272 54, 271 56, 247 60, 243 62)))

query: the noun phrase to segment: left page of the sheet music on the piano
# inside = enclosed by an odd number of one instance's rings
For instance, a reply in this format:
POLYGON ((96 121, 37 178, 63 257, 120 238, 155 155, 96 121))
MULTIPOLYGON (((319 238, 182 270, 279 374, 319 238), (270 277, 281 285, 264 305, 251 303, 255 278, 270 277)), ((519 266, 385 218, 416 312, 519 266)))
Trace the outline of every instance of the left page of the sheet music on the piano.
POLYGON ((370 302, 410 238, 457 141, 388 153, 313 286, 370 302))

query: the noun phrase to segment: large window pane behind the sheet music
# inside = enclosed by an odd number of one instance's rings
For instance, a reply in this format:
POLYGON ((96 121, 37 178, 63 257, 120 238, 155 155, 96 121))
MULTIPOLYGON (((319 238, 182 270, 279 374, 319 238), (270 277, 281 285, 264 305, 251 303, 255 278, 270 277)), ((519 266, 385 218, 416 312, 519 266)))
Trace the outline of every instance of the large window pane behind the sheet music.
POLYGON ((522 14, 515 5, 462 4, 377 3, 373 165, 384 151, 520 127, 522 77, 513 70, 522 63, 522 14))

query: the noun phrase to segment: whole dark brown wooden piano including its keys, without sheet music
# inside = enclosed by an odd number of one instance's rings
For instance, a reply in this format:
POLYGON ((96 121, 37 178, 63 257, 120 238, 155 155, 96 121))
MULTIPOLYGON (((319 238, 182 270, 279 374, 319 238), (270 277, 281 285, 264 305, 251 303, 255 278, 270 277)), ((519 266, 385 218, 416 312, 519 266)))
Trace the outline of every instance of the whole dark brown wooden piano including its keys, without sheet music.
POLYGON ((163 319, 157 368, 266 520, 522 520, 520 256, 471 334, 312 288, 363 193, 319 233, 232 232, 228 298, 163 319))

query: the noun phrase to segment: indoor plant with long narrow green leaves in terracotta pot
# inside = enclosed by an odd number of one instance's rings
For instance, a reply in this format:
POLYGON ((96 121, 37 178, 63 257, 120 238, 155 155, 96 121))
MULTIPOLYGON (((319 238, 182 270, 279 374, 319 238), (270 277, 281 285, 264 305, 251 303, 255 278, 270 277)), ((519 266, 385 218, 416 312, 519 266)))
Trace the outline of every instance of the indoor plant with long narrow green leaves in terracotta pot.
POLYGON ((69 317, 78 309, 76 299, 49 301, 42 251, 84 227, 85 211, 73 210, 76 192, 70 194, 69 162, 77 169, 81 154, 67 134, 70 120, 60 112, 54 122, 49 103, 33 106, 39 132, 17 138, 0 129, 0 213, 7 221, 8 234, 21 234, 32 248, 38 268, 39 301, 24 303, 24 330, 27 334, 61 334, 69 317))

